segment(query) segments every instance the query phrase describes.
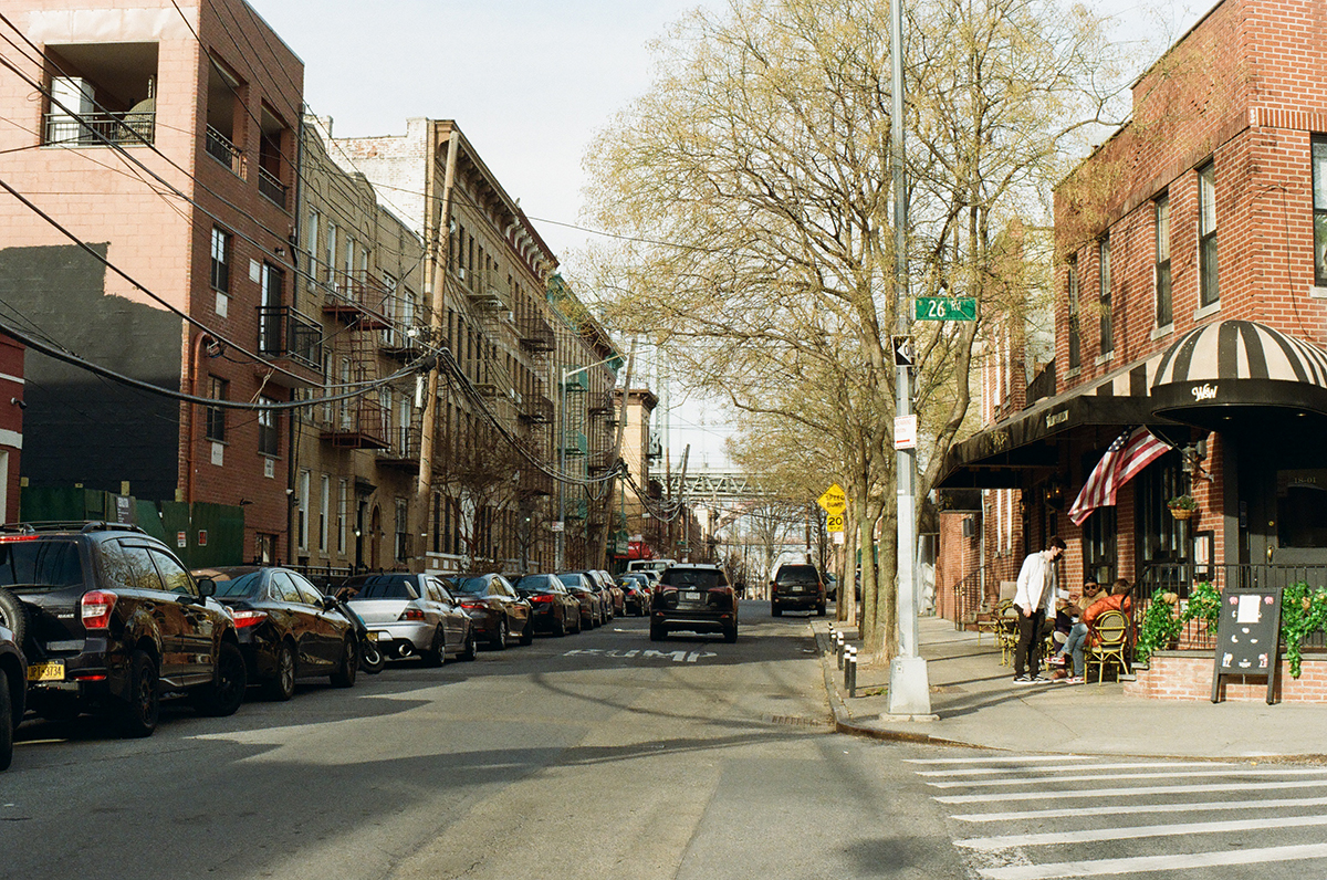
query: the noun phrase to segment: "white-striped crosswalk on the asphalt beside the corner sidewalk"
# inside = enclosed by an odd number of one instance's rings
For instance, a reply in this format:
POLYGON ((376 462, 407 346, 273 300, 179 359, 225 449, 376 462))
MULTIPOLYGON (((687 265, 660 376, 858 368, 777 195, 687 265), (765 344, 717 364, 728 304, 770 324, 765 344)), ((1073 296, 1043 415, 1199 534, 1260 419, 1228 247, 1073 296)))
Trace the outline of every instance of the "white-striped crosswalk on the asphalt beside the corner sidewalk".
POLYGON ((908 763, 955 808, 954 844, 990 880, 1206 880, 1283 863, 1327 876, 1327 767, 1005 754, 908 763))

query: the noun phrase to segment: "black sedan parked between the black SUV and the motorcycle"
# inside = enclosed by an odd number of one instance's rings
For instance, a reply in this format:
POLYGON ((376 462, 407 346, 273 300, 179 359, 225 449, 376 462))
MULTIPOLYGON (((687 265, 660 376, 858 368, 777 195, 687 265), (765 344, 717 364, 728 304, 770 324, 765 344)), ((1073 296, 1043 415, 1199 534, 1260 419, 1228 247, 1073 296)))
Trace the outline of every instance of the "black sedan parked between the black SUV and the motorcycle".
POLYGON ((297 678, 328 676, 354 686, 360 645, 354 625, 304 576, 285 568, 234 565, 198 568, 216 581, 216 600, 235 620, 251 685, 272 699, 295 696, 297 678))

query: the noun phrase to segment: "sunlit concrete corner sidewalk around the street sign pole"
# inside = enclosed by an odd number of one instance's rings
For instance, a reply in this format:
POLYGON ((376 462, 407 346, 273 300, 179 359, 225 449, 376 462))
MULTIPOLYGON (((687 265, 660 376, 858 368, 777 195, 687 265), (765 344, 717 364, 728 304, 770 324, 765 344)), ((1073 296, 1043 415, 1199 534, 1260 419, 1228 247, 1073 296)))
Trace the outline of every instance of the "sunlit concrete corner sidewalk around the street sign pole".
MULTIPOLYGON (((811 619, 839 730, 904 739, 1050 753, 1194 758, 1327 761, 1327 705, 1180 702, 1125 697, 1119 684, 1015 685, 991 637, 957 632, 940 617, 921 620, 921 652, 936 721, 893 721, 889 669, 859 669, 847 697, 825 619, 811 619)), ((856 632, 845 629, 848 644, 856 632)))

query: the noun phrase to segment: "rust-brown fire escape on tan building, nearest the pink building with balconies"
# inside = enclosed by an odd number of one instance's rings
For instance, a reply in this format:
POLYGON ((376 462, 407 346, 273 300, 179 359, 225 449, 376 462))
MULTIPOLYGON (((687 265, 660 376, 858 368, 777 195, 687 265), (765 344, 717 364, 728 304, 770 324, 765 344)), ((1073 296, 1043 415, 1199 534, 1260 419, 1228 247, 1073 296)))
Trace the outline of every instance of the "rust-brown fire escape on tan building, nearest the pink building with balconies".
MULTIPOLYGON (((378 334, 391 328, 387 307, 387 289, 368 272, 334 273, 322 303, 322 315, 340 327, 329 345, 333 394, 381 378, 378 334)), ((382 389, 329 403, 320 413, 320 437, 338 449, 390 449, 389 401, 382 389)))

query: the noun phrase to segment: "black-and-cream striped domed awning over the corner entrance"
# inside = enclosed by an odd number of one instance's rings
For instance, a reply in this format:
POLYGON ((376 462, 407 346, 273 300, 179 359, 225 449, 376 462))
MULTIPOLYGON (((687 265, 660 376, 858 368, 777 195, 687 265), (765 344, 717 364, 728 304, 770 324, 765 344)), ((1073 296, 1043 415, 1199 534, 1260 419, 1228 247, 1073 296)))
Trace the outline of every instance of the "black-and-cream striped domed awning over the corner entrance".
POLYGON ((1152 405, 1202 427, 1220 427, 1242 407, 1327 415, 1327 352, 1253 321, 1206 324, 1166 349, 1152 405))

